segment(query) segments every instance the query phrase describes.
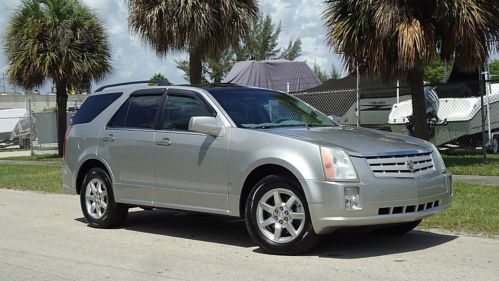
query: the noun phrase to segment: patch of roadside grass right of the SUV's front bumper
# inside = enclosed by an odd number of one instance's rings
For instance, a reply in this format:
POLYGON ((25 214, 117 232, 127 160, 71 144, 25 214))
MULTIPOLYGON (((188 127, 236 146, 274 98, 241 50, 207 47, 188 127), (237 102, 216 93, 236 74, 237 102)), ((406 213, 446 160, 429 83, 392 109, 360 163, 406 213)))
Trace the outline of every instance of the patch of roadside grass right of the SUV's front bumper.
POLYGON ((499 186, 455 182, 452 206, 420 227, 499 235, 499 186))

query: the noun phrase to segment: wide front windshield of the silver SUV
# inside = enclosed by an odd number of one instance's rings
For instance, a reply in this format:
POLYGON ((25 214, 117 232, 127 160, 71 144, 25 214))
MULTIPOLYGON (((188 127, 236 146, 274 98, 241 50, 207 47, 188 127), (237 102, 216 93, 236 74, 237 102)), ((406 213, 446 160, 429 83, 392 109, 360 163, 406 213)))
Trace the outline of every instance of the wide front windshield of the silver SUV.
POLYGON ((317 109, 280 92, 262 89, 208 91, 238 127, 336 126, 317 109))

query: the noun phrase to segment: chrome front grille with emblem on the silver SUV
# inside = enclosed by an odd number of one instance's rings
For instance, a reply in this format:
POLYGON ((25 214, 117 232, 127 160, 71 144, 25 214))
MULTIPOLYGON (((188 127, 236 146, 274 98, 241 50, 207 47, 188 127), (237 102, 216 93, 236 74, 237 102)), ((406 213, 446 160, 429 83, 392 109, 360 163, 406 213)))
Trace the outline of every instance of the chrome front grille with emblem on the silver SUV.
POLYGON ((366 157, 376 177, 414 178, 435 170, 431 153, 366 157))

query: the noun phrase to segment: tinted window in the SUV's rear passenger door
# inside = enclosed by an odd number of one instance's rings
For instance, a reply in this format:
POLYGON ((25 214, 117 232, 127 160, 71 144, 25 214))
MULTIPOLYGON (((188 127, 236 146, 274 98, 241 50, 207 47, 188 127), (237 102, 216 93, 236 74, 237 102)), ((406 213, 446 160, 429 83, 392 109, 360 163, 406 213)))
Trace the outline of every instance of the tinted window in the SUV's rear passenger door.
POLYGON ((116 112, 109 127, 151 129, 160 102, 161 95, 132 96, 116 112))

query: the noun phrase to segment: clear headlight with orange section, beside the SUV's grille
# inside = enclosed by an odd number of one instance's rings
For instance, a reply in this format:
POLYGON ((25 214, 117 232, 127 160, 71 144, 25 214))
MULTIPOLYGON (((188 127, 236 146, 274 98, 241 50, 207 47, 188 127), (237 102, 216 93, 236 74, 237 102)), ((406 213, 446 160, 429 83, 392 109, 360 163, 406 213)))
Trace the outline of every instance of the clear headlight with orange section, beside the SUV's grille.
POLYGON ((352 160, 345 151, 321 147, 321 158, 326 180, 356 180, 358 178, 352 160))

